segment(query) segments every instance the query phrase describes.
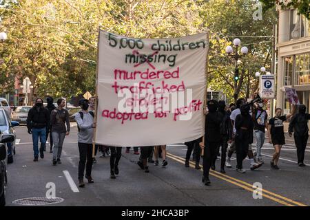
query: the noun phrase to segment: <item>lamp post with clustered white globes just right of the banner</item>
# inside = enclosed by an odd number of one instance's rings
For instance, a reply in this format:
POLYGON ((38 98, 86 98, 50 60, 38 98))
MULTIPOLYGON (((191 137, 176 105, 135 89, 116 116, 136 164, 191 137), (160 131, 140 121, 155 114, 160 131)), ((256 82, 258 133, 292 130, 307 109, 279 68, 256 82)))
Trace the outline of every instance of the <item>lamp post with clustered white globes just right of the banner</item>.
POLYGON ((238 61, 240 61, 240 58, 242 58, 249 52, 249 49, 247 47, 241 47, 241 53, 239 53, 238 48, 240 47, 240 44, 241 44, 240 39, 234 39, 233 43, 235 45, 235 52, 234 52, 234 48, 231 46, 227 46, 225 51, 227 55, 233 58, 235 61, 234 100, 236 101, 238 98, 238 80, 239 80, 238 61))

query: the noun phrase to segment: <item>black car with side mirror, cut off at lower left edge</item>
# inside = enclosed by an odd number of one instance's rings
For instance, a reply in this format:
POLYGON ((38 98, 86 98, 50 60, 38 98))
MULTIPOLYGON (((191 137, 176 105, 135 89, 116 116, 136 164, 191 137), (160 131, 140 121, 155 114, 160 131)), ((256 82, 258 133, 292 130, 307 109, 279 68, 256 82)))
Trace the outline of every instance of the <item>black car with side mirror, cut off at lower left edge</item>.
POLYGON ((15 141, 14 135, 1 135, 0 137, 0 206, 6 206, 6 189, 8 183, 6 175, 6 143, 15 141))

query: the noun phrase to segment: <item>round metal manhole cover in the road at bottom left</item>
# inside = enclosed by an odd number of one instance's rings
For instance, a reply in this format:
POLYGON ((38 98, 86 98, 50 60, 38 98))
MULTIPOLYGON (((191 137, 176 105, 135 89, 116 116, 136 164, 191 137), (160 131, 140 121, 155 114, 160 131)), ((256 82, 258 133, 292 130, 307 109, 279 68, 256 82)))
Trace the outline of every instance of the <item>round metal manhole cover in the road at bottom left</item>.
POLYGON ((23 206, 43 206, 63 202, 63 198, 59 197, 32 197, 25 199, 17 199, 12 201, 13 204, 23 206))

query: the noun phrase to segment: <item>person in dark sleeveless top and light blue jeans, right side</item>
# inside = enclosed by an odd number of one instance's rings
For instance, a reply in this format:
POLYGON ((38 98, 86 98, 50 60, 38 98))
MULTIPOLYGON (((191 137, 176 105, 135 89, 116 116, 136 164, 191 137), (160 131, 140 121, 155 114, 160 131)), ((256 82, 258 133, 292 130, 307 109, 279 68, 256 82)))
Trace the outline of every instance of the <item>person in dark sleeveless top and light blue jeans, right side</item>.
POLYGON ((252 118, 254 121, 254 135, 256 138, 256 161, 264 164, 262 160, 261 149, 265 142, 265 129, 268 128, 267 111, 263 109, 264 104, 262 101, 258 102, 258 105, 254 107, 252 105, 252 118))

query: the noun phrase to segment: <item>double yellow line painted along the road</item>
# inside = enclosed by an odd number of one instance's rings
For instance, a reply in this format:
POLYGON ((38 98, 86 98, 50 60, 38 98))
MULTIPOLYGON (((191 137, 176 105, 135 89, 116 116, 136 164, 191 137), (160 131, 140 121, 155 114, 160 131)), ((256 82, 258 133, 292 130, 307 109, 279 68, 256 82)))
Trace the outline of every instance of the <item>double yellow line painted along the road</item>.
MULTIPOLYGON (((185 159, 183 157, 178 157, 176 155, 172 155, 171 153, 167 153, 167 157, 171 158, 171 159, 174 159, 176 160, 177 162, 180 162, 181 164, 185 164, 185 159)), ((194 162, 189 162, 189 166, 191 166, 192 168, 194 168, 194 162)), ((244 188, 245 190, 248 190, 250 192, 254 192, 254 188, 253 188, 253 185, 245 182, 245 181, 242 181, 240 179, 236 179, 234 177, 230 177, 228 175, 225 175, 223 173, 219 173, 219 172, 216 172, 214 170, 210 170, 210 175, 213 175, 214 177, 217 177, 219 179, 223 179, 224 181, 228 181, 229 183, 231 184, 234 184, 236 186, 239 186, 241 188, 244 188)), ((299 203, 297 201, 293 201, 291 199, 288 199, 287 197, 282 197, 281 195, 278 195, 276 193, 273 193, 273 192, 270 192, 268 190, 264 190, 262 189, 262 196, 263 197, 266 197, 268 199, 271 199, 273 201, 276 201, 278 203, 281 203, 282 205, 285 205, 285 206, 307 206, 307 205, 304 205, 303 203, 299 203), (269 194, 269 195, 268 195, 269 194), (285 201, 282 201, 278 198, 282 199, 282 200, 285 200, 285 201), (287 202, 290 202, 290 203, 287 203, 287 202), (293 203, 293 205, 291 204, 293 203)))

